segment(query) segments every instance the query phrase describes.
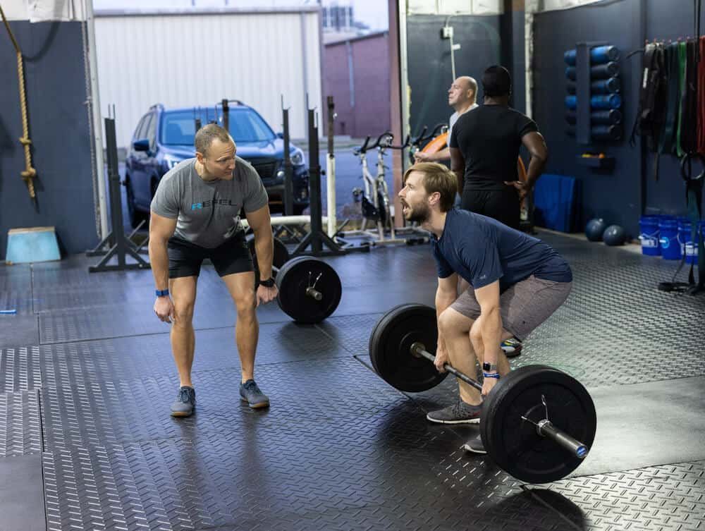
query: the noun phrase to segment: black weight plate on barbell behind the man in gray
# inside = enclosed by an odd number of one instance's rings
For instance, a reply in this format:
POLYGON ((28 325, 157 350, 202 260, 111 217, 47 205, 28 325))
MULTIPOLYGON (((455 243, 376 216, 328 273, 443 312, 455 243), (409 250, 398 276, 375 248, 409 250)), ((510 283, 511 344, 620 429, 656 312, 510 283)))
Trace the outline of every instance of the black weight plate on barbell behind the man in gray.
POLYGON ((296 322, 314 324, 336 311, 343 295, 341 279, 329 264, 302 256, 283 264, 276 275, 277 303, 296 322))

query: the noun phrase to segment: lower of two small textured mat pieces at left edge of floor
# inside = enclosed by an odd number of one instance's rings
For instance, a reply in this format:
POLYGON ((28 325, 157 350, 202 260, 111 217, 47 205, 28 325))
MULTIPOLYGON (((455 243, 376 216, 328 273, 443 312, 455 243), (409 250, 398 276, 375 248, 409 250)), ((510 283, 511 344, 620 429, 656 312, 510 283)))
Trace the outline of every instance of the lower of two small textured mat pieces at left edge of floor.
POLYGON ((37 391, 0 393, 0 458, 40 451, 42 428, 37 391))

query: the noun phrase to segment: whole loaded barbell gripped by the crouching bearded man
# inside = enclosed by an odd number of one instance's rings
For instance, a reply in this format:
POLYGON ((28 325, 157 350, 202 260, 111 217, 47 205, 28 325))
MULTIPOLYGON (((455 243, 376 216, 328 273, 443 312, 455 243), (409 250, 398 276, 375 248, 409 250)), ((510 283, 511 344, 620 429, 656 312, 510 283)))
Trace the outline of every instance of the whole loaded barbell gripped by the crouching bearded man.
MULTIPOLYGON (((407 304, 387 312, 369 338, 372 367, 400 391, 426 391, 453 374, 475 389, 482 385, 450 365, 433 364, 436 310, 407 304)), ((587 390, 558 369, 526 365, 497 382, 486 396, 480 421, 484 447, 505 472, 529 483, 560 480, 587 456, 597 417, 587 390)))

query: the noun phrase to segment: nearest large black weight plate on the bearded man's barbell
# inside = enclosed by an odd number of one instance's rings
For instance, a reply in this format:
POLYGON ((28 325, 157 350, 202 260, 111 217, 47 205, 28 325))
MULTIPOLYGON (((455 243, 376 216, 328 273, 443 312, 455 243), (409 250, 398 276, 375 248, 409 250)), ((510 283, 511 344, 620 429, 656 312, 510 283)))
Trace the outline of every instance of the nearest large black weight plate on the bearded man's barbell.
POLYGON ((482 442, 497 465, 517 480, 560 480, 583 461, 539 435, 534 422, 545 419, 546 410, 554 426, 587 448, 592 446, 597 429, 595 405, 584 386, 565 372, 545 365, 520 367, 501 378, 485 398, 482 442))

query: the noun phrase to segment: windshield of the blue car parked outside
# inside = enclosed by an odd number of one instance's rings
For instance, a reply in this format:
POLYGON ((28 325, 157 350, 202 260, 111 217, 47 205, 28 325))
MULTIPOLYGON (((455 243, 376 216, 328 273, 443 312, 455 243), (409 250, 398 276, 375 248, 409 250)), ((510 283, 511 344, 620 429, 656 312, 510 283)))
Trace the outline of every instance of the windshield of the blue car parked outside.
MULTIPOLYGON (((200 118, 203 125, 213 120, 213 112, 206 109, 196 111, 171 111, 164 115, 160 139, 164 145, 193 145, 195 120, 200 118)), ((261 142, 276 138, 267 123, 252 109, 231 109, 230 134, 237 142, 261 142)), ((222 121, 219 121, 222 124, 222 121)))

